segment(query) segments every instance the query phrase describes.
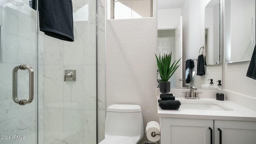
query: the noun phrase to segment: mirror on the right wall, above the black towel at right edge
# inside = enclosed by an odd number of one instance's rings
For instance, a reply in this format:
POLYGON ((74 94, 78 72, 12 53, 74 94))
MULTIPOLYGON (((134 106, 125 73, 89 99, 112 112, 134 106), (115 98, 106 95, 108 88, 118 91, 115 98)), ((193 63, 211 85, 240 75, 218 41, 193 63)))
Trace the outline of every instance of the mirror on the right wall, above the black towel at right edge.
POLYGON ((224 0, 225 63, 251 60, 255 13, 255 0, 224 0))

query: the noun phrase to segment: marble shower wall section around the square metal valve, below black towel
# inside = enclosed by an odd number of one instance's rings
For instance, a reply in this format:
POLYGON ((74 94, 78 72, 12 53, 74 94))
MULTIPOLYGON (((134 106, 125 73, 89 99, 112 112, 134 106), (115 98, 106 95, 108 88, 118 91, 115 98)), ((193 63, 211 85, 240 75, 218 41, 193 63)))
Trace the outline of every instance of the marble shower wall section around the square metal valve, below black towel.
POLYGON ((44 98, 39 144, 96 144, 96 1, 72 2, 74 42, 39 34, 44 98), (64 82, 64 70, 76 70, 76 81, 64 82))

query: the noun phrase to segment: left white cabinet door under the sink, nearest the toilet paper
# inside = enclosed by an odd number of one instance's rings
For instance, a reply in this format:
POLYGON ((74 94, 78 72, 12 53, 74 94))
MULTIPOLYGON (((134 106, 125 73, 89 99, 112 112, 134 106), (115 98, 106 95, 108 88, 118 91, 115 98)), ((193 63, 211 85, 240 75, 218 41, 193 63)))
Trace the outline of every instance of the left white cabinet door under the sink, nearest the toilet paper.
POLYGON ((163 118, 162 144, 211 144, 213 120, 163 118))

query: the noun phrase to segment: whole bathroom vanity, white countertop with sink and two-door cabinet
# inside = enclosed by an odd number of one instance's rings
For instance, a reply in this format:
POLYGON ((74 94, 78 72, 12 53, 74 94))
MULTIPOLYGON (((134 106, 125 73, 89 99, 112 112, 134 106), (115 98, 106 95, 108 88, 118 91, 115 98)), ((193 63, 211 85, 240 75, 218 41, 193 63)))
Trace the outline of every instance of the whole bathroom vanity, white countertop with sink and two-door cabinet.
POLYGON ((157 106, 161 144, 256 143, 255 111, 215 98, 176 100, 181 102, 178 110, 162 110, 157 106))

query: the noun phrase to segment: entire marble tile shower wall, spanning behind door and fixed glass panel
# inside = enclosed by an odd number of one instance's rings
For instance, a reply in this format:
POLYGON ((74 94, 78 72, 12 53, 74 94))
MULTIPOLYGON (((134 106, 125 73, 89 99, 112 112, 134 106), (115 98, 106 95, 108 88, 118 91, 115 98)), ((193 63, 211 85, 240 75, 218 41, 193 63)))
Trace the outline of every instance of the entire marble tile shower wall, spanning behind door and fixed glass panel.
MULTIPOLYGON (((39 144, 95 144, 97 101, 98 140, 104 138, 105 1, 98 1, 98 100, 96 100, 96 1, 72 0, 72 2, 74 13, 78 13, 78 18, 74 18, 75 42, 63 42, 42 32, 38 33, 38 97, 35 97, 33 105, 23 108, 18 107, 10 99, 11 73, 18 64, 30 64, 36 70, 34 63, 36 40, 31 40, 36 37, 33 29, 35 17, 27 18, 25 13, 16 12, 10 7, 2 10, 7 15, 2 14, 6 16, 2 18, 6 23, 3 24, 1 21, 1 24, 6 26, 4 31, 6 39, 3 48, 4 63, 0 64, 3 77, 0 81, 2 107, 0 134, 27 136, 26 140, 9 140, 4 141, 4 144, 30 144, 30 142, 34 144, 37 98, 39 144), (22 56, 25 54, 27 56, 22 56), (76 70, 76 82, 63 81, 64 70, 68 69, 76 70)), ((28 85, 27 72, 21 71, 19 75, 22 79, 19 86, 25 89, 28 85)), ((19 91, 19 95, 23 93, 28 94, 26 90, 19 91)))

